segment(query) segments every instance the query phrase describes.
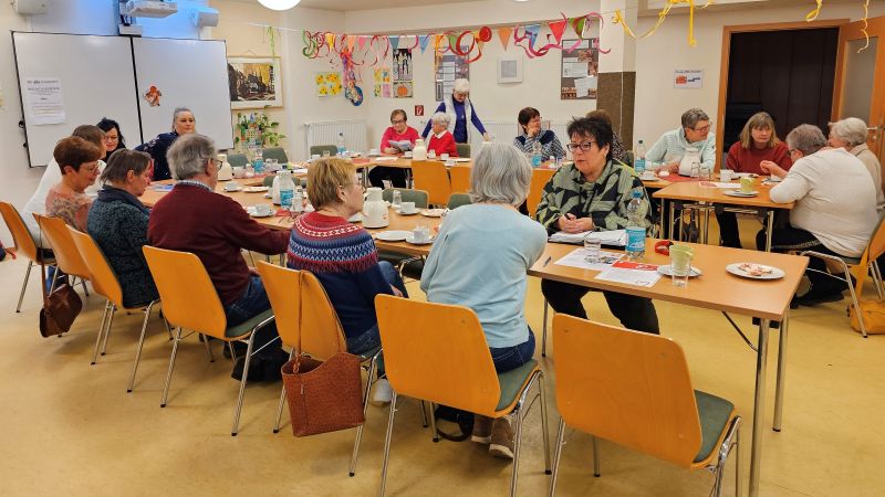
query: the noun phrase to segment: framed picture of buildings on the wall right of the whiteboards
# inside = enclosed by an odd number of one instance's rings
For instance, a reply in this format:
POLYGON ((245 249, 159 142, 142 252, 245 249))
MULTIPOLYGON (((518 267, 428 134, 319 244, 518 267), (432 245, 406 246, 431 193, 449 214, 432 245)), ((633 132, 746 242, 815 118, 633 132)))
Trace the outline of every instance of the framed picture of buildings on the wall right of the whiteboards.
POLYGON ((280 57, 228 57, 230 108, 283 106, 280 57))

